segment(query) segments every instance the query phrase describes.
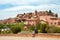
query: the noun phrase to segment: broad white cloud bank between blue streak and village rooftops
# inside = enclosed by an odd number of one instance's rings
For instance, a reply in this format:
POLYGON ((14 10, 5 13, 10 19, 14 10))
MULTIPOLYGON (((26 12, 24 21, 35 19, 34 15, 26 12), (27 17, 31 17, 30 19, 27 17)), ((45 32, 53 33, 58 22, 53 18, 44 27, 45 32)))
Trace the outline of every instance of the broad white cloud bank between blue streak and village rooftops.
MULTIPOLYGON (((60 5, 55 4, 45 4, 39 6, 16 6, 12 8, 7 8, 4 10, 0 10, 0 19, 5 19, 9 17, 15 17, 18 13, 30 12, 34 10, 52 10, 55 13, 60 13, 60 5)), ((59 14, 60 15, 60 14, 59 14)))

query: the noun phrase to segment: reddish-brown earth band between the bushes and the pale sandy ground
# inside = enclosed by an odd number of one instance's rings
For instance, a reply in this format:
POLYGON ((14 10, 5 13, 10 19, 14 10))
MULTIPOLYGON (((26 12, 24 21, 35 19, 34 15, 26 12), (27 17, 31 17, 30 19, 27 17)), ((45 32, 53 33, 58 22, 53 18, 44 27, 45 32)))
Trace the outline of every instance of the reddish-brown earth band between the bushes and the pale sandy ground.
MULTIPOLYGON (((33 34, 0 34, 0 36, 33 37, 33 34)), ((60 35, 36 34, 35 37, 60 38, 60 35)))

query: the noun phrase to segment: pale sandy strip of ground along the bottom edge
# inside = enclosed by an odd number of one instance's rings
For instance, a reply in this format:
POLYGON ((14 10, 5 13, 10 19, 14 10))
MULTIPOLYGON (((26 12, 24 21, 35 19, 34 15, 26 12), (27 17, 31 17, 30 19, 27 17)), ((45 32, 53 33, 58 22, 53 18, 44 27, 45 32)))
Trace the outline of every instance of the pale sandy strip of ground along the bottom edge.
POLYGON ((60 38, 0 36, 0 40, 60 40, 60 38))

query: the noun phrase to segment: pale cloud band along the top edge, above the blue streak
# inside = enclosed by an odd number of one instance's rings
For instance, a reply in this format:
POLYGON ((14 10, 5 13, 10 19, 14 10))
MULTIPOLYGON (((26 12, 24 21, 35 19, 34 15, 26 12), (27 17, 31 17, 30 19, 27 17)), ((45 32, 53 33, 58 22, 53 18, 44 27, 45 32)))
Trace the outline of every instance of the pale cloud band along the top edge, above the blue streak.
MULTIPOLYGON (((13 4, 13 5, 22 5, 22 4, 37 4, 37 3, 49 3, 52 0, 0 0, 0 4, 13 4)), ((55 1, 55 0, 54 0, 55 1)))

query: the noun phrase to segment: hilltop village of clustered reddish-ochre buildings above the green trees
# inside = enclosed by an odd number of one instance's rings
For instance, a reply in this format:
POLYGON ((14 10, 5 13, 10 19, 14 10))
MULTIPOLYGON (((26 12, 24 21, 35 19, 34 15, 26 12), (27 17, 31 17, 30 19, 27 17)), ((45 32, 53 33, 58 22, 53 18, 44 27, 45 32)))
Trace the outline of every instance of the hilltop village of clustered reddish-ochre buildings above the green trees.
POLYGON ((49 25, 60 25, 60 18, 58 14, 53 13, 51 10, 49 11, 37 11, 18 14, 15 18, 8 18, 5 20, 0 20, 2 24, 9 24, 9 23, 17 23, 17 22, 24 22, 26 26, 36 25, 39 23, 47 23, 49 25))

